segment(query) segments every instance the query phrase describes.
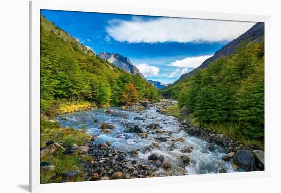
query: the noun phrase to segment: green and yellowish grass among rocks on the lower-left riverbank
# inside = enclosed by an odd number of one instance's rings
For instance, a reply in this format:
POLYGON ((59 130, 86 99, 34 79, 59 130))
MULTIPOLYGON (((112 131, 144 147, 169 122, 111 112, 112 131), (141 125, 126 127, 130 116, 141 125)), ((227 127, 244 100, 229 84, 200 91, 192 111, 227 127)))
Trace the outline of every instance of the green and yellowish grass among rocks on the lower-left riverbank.
MULTIPOLYGON (((85 141, 90 140, 91 137, 86 133, 85 129, 62 128, 60 124, 47 119, 41 119, 41 138, 40 146, 44 147, 45 142, 54 140, 55 142, 62 142, 65 147, 70 147, 76 143, 82 146, 85 141)), ((91 156, 79 156, 77 152, 72 155, 64 155, 63 150, 57 150, 51 156, 46 155, 41 158, 41 162, 47 161, 50 165, 55 166, 53 171, 41 170, 41 183, 57 183, 61 180, 61 173, 67 171, 81 171, 81 173, 73 181, 83 181, 83 167, 79 164, 79 160, 92 160, 91 156)))

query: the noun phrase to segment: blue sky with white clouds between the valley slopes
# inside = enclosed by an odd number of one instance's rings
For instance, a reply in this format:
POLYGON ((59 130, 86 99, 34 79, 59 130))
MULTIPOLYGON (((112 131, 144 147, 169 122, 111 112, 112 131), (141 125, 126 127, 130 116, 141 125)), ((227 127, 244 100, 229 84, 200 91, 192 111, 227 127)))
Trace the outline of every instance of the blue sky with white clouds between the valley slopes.
POLYGON ((150 80, 173 83, 254 23, 41 10, 99 52, 119 53, 150 80))

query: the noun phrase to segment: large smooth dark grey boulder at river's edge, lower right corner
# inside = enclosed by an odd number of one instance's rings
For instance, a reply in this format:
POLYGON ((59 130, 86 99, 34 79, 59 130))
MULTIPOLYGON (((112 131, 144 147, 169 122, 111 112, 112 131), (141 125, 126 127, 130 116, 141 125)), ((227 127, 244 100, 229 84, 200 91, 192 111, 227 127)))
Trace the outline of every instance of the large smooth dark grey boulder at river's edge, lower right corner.
POLYGON ((233 157, 233 162, 245 171, 255 170, 255 157, 250 150, 238 150, 233 157))

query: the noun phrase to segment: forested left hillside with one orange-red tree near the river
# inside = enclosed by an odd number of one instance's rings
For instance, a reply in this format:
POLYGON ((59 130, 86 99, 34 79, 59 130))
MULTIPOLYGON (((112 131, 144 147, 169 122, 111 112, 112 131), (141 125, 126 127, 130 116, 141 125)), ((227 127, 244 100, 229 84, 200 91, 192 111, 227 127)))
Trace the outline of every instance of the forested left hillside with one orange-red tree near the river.
POLYGON ((54 116, 60 104, 96 107, 158 100, 157 88, 98 57, 41 16, 41 113, 54 116))

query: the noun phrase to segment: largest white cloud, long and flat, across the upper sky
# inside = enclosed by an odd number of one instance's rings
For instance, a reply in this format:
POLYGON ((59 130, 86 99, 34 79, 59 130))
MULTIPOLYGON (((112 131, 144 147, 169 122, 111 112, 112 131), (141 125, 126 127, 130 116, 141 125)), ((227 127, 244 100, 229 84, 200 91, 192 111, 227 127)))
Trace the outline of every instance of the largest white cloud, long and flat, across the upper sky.
POLYGON ((111 20, 106 31, 116 41, 129 43, 231 41, 253 22, 161 17, 142 20, 111 20))

